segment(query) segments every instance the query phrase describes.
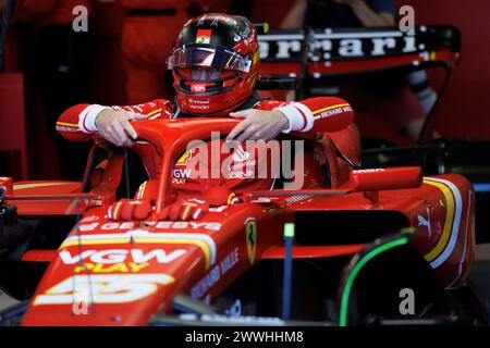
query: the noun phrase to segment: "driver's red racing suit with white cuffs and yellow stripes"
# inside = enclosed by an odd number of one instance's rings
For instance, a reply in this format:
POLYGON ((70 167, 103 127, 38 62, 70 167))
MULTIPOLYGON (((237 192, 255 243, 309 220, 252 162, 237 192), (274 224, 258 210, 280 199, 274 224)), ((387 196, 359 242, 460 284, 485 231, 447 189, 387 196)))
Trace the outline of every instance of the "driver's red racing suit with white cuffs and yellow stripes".
MULTIPOLYGON (((283 102, 278 100, 261 100, 253 104, 254 109, 281 111, 289 120, 287 129, 290 132, 336 132, 348 126, 354 119, 354 112, 351 105, 340 98, 317 97, 306 99, 299 102, 283 102)), ((89 140, 97 135, 95 120, 105 109, 125 110, 133 122, 156 119, 174 119, 176 115, 175 105, 169 100, 156 99, 150 102, 126 107, 103 107, 99 104, 77 104, 66 110, 58 120, 57 130, 66 139, 73 141, 89 140)), ((222 141, 222 140, 221 140, 222 141)), ((157 178, 161 165, 161 159, 155 153, 152 147, 138 147, 135 149, 142 158, 149 181, 157 178)), ((235 175, 231 178, 220 179, 197 179, 186 181, 185 175, 188 169, 185 167, 185 154, 175 163, 173 186, 181 191, 200 191, 205 192, 210 187, 224 186, 230 190, 248 189, 269 189, 273 178, 267 181, 257 179, 247 175, 235 175)), ((233 153, 234 154, 234 153, 233 153)), ((229 157, 228 153, 225 157, 229 157)), ((221 157, 221 161, 223 156, 221 157)), ((243 161, 243 160, 242 160, 243 161)), ((238 159, 240 162, 240 159, 238 159)), ((241 163, 233 162, 231 170, 241 169, 241 163), (236 164, 236 165, 235 165, 236 164)), ((139 198, 139 197, 138 197, 139 198)))

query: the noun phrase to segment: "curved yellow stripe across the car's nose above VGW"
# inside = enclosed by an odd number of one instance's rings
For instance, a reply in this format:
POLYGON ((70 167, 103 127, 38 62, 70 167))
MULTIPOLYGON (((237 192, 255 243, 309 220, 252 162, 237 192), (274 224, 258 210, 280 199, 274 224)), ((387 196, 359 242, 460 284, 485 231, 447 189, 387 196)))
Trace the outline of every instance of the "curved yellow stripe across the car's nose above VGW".
MULTIPOLYGON (((211 265, 211 251, 209 250, 209 246, 199 239, 192 239, 192 238, 145 238, 139 236, 133 236, 134 243, 140 243, 140 244, 187 244, 187 245, 195 245, 199 247, 200 250, 203 250, 205 254, 206 260, 206 270, 209 269, 211 265)), ((96 246, 96 245, 114 245, 114 244, 128 244, 128 238, 113 238, 113 239, 82 239, 82 240, 68 240, 63 243, 58 250, 73 247, 73 246, 96 246)))

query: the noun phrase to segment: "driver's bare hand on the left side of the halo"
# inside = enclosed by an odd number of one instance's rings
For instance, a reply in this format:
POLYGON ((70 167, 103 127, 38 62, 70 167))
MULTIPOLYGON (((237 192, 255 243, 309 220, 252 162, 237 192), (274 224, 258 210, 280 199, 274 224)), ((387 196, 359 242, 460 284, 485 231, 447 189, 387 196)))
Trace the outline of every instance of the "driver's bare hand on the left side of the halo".
POLYGON ((124 110, 102 110, 97 115, 95 125, 102 138, 117 146, 133 146, 128 136, 133 139, 138 136, 130 123, 130 113, 124 110))

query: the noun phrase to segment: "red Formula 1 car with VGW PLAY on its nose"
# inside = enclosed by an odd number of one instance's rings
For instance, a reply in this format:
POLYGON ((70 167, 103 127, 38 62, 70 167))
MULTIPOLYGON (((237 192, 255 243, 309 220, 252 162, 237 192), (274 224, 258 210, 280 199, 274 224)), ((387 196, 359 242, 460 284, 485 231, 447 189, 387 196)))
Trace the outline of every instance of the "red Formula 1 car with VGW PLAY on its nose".
POLYGON ((304 160, 302 189, 278 181, 235 191, 199 220, 159 220, 187 142, 237 122, 135 123, 138 139, 161 156, 144 220, 110 219, 124 188, 118 151, 99 160, 102 150, 94 150, 82 183, 3 178, 4 207, 16 207, 16 223, 35 232, 2 254, 3 290, 25 299, 1 313, 2 324, 481 322, 466 282, 471 185, 461 175, 422 177, 418 167, 356 169, 353 125, 284 135, 304 141, 294 154, 304 160))

